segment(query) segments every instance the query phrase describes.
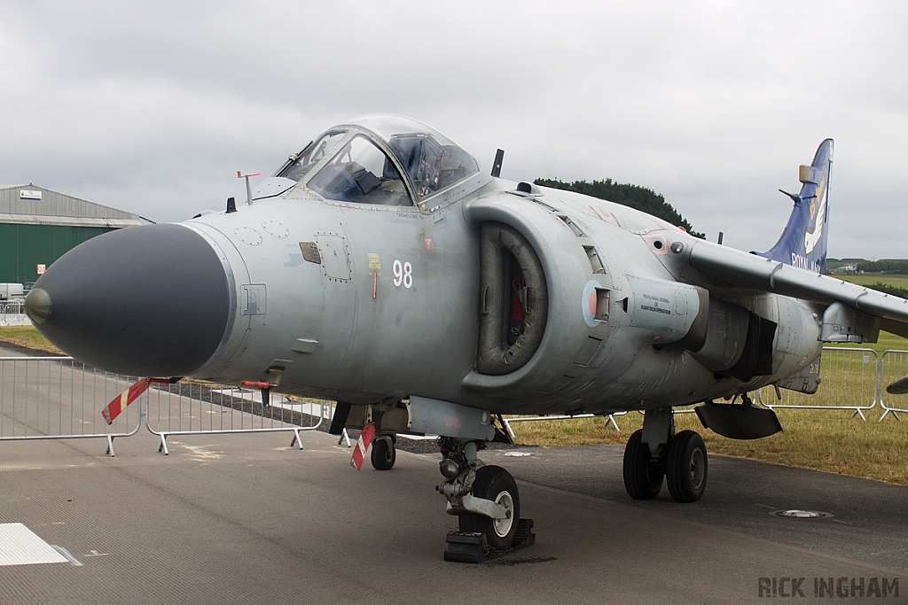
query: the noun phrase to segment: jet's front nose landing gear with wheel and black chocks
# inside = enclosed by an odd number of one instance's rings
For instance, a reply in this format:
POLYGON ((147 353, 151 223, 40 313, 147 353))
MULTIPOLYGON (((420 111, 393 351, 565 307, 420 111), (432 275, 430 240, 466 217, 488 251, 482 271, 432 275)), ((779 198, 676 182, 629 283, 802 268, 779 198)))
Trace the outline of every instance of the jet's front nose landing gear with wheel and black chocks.
POLYGON ((449 532, 445 561, 479 563, 536 542, 533 522, 520 519, 520 495, 514 477, 477 457, 481 442, 439 437, 445 481, 436 489, 458 515, 459 532, 449 532))

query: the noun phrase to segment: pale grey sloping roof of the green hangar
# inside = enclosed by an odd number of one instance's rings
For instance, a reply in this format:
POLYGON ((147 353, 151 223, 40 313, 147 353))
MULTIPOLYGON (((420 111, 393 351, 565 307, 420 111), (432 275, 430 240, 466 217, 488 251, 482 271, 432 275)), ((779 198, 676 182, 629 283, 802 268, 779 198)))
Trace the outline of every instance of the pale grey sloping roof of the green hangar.
POLYGON ((138 214, 80 200, 33 183, 0 185, 0 223, 113 228, 142 224, 138 214))

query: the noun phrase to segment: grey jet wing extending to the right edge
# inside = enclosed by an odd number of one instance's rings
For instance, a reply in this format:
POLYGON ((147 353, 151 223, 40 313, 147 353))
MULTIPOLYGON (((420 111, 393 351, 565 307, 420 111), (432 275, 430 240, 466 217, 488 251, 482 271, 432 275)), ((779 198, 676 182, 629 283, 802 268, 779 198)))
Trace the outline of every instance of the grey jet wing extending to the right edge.
POLYGON ((706 241, 691 247, 689 263, 707 277, 730 286, 824 305, 844 303, 867 315, 881 317, 883 330, 908 337, 908 300, 904 298, 706 241))

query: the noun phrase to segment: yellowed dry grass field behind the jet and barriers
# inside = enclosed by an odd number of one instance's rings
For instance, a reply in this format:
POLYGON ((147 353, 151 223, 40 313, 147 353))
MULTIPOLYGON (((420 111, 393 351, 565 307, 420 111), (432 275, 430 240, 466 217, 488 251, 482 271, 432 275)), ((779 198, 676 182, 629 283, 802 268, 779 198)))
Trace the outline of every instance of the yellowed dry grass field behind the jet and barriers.
MULTIPOLYGON (((0 341, 60 353, 31 326, 0 327, 0 341)), ((908 350, 908 340, 882 333, 879 343, 864 346, 881 353, 885 349, 908 350)), ((863 355, 845 357, 854 357, 857 362, 834 359, 821 370, 824 383, 820 387, 831 394, 826 397, 844 397, 850 391, 868 388, 862 384, 866 372, 853 365, 860 365, 863 355)), ((766 389, 765 396, 773 396, 771 389, 766 389)), ((823 391, 812 396, 824 396, 823 391)), ((695 414, 676 415, 676 425, 679 431, 693 429, 702 434, 712 453, 908 485, 908 422, 898 422, 891 416, 877 422, 882 414, 879 406, 865 412, 866 422, 842 410, 779 409, 777 414, 783 433, 756 441, 726 439, 704 429, 695 414)), ((630 412, 616 416, 616 421, 620 431, 603 418, 515 423, 513 428, 521 444, 625 444, 627 437, 643 425, 643 415, 630 412)))

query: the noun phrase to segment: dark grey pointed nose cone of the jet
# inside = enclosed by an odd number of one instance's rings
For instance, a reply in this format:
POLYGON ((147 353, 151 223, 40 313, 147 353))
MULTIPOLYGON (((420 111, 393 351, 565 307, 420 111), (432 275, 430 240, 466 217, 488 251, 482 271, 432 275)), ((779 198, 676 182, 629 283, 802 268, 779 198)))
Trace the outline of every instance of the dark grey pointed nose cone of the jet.
POLYGON ((85 363, 133 376, 187 376, 221 344, 230 286, 218 253, 182 225, 89 239, 47 268, 25 312, 85 363))

